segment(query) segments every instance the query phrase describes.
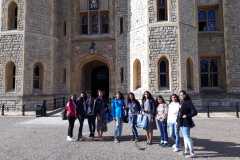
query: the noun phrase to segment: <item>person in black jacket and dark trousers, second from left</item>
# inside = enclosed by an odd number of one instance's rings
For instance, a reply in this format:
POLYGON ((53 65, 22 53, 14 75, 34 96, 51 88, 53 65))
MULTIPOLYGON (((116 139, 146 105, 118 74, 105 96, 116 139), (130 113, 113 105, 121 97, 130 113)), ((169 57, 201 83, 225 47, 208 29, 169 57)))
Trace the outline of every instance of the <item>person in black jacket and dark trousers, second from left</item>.
POLYGON ((78 141, 82 141, 82 129, 83 129, 83 122, 84 119, 86 118, 86 113, 87 113, 87 94, 85 92, 82 92, 80 94, 80 97, 78 97, 77 102, 76 102, 76 111, 77 111, 77 118, 79 120, 79 132, 78 132, 78 141))

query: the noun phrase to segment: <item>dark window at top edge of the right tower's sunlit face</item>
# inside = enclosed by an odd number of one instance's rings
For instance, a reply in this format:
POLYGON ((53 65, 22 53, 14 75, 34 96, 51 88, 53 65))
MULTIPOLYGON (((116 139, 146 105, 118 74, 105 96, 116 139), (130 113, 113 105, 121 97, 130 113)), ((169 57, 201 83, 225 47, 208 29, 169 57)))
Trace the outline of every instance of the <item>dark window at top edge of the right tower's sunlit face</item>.
POLYGON ((157 0, 157 19, 158 21, 168 20, 167 0, 157 0))

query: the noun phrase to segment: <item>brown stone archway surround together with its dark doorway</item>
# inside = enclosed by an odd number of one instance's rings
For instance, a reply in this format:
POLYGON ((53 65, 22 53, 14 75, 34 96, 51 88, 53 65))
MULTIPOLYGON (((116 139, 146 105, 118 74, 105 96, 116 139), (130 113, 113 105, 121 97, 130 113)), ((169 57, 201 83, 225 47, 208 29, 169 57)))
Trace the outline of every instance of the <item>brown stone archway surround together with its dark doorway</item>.
POLYGON ((79 95, 87 91, 94 95, 97 89, 102 89, 106 96, 112 96, 115 92, 113 74, 112 59, 97 54, 75 57, 72 61, 70 93, 79 95))

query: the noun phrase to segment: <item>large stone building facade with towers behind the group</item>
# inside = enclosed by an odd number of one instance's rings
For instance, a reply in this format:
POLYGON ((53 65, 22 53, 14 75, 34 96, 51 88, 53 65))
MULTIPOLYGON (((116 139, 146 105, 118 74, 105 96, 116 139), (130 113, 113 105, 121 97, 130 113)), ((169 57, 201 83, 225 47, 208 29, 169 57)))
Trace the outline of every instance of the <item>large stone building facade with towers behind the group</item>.
POLYGON ((240 95, 239 0, 0 0, 0 101, 240 95))

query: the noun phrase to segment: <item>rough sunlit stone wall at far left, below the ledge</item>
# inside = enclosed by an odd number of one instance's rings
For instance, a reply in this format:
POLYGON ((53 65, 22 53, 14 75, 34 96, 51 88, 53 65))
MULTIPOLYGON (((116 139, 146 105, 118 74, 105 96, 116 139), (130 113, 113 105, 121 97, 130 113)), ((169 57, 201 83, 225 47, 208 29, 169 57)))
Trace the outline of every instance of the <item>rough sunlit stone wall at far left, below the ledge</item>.
POLYGON ((21 96, 23 94, 23 46, 24 35, 22 31, 0 32, 0 95, 21 96), (13 62, 16 66, 15 91, 6 92, 5 71, 6 64, 13 62))

